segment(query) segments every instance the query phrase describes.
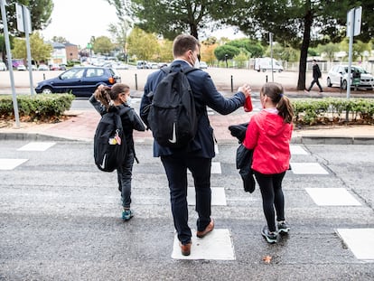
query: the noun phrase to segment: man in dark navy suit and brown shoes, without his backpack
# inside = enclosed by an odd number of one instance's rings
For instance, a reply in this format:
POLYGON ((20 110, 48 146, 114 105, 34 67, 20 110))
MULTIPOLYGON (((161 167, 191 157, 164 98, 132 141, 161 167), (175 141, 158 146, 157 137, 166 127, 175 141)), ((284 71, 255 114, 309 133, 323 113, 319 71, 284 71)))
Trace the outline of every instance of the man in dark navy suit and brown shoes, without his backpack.
MULTIPOLYGON (((200 42, 191 35, 179 35, 173 42, 173 71, 186 70, 199 63, 200 42)), ((145 83, 145 92, 140 104, 140 115, 147 122, 147 109, 152 103, 149 93, 154 92, 157 85, 165 77, 163 70, 150 74, 145 83)), ((187 169, 192 173, 196 192, 196 211, 198 213, 198 238, 203 238, 214 229, 214 221, 210 218, 210 167, 214 157, 213 129, 207 113, 207 106, 220 114, 227 115, 244 105, 250 95, 250 87, 239 87, 238 93, 231 98, 224 98, 214 86, 210 75, 202 70, 187 73, 192 88, 198 129, 196 136, 185 148, 173 149, 159 145, 154 140, 154 157, 161 157, 170 189, 174 227, 180 240, 183 256, 189 256, 192 247, 192 231, 188 225, 187 204, 187 169)))

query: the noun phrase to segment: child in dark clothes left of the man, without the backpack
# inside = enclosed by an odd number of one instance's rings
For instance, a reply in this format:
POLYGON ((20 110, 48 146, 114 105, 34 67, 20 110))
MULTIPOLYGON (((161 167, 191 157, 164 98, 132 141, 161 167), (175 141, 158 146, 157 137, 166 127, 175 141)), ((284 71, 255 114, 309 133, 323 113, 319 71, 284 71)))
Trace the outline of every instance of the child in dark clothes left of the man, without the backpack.
MULTIPOLYGON (((89 98, 89 102, 98 110, 100 115, 104 115, 109 111, 119 111, 123 107, 129 107, 130 88, 122 83, 117 83, 111 88, 100 85, 89 98)), ((126 162, 117 168, 118 190, 121 192, 123 206, 122 220, 130 220, 134 216, 134 212, 130 209, 131 180, 134 159, 136 159, 133 130, 145 131, 145 125, 142 120, 137 116, 135 109, 131 109, 121 116, 127 146, 126 162)))

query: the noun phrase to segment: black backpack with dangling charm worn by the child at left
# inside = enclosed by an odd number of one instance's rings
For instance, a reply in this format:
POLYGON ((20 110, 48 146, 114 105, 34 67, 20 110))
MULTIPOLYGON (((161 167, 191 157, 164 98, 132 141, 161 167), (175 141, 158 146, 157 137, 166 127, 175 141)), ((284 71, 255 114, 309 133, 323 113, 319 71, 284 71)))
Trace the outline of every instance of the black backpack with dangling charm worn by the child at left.
POLYGON ((130 108, 110 111, 104 114, 94 136, 94 158, 98 169, 113 172, 126 160, 126 137, 122 127, 121 115, 130 108))

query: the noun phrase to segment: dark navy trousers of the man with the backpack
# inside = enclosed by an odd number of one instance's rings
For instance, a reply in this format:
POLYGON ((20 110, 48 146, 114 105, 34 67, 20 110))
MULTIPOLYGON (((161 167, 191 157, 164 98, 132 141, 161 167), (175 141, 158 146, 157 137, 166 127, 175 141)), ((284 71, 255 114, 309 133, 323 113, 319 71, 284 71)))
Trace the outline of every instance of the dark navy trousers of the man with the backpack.
POLYGON ((197 230, 204 230, 210 223, 210 158, 192 156, 161 156, 169 182, 174 227, 182 244, 191 241, 188 226, 187 169, 192 173, 196 192, 197 230))

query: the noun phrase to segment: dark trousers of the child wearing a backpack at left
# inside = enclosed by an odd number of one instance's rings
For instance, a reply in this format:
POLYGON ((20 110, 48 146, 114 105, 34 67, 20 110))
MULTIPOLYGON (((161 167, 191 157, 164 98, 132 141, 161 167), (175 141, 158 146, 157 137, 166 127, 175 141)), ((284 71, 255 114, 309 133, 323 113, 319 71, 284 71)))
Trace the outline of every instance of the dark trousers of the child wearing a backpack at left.
POLYGON ((118 189, 121 192, 122 206, 130 208, 131 204, 131 180, 133 176, 134 152, 128 151, 126 162, 117 169, 118 189))

